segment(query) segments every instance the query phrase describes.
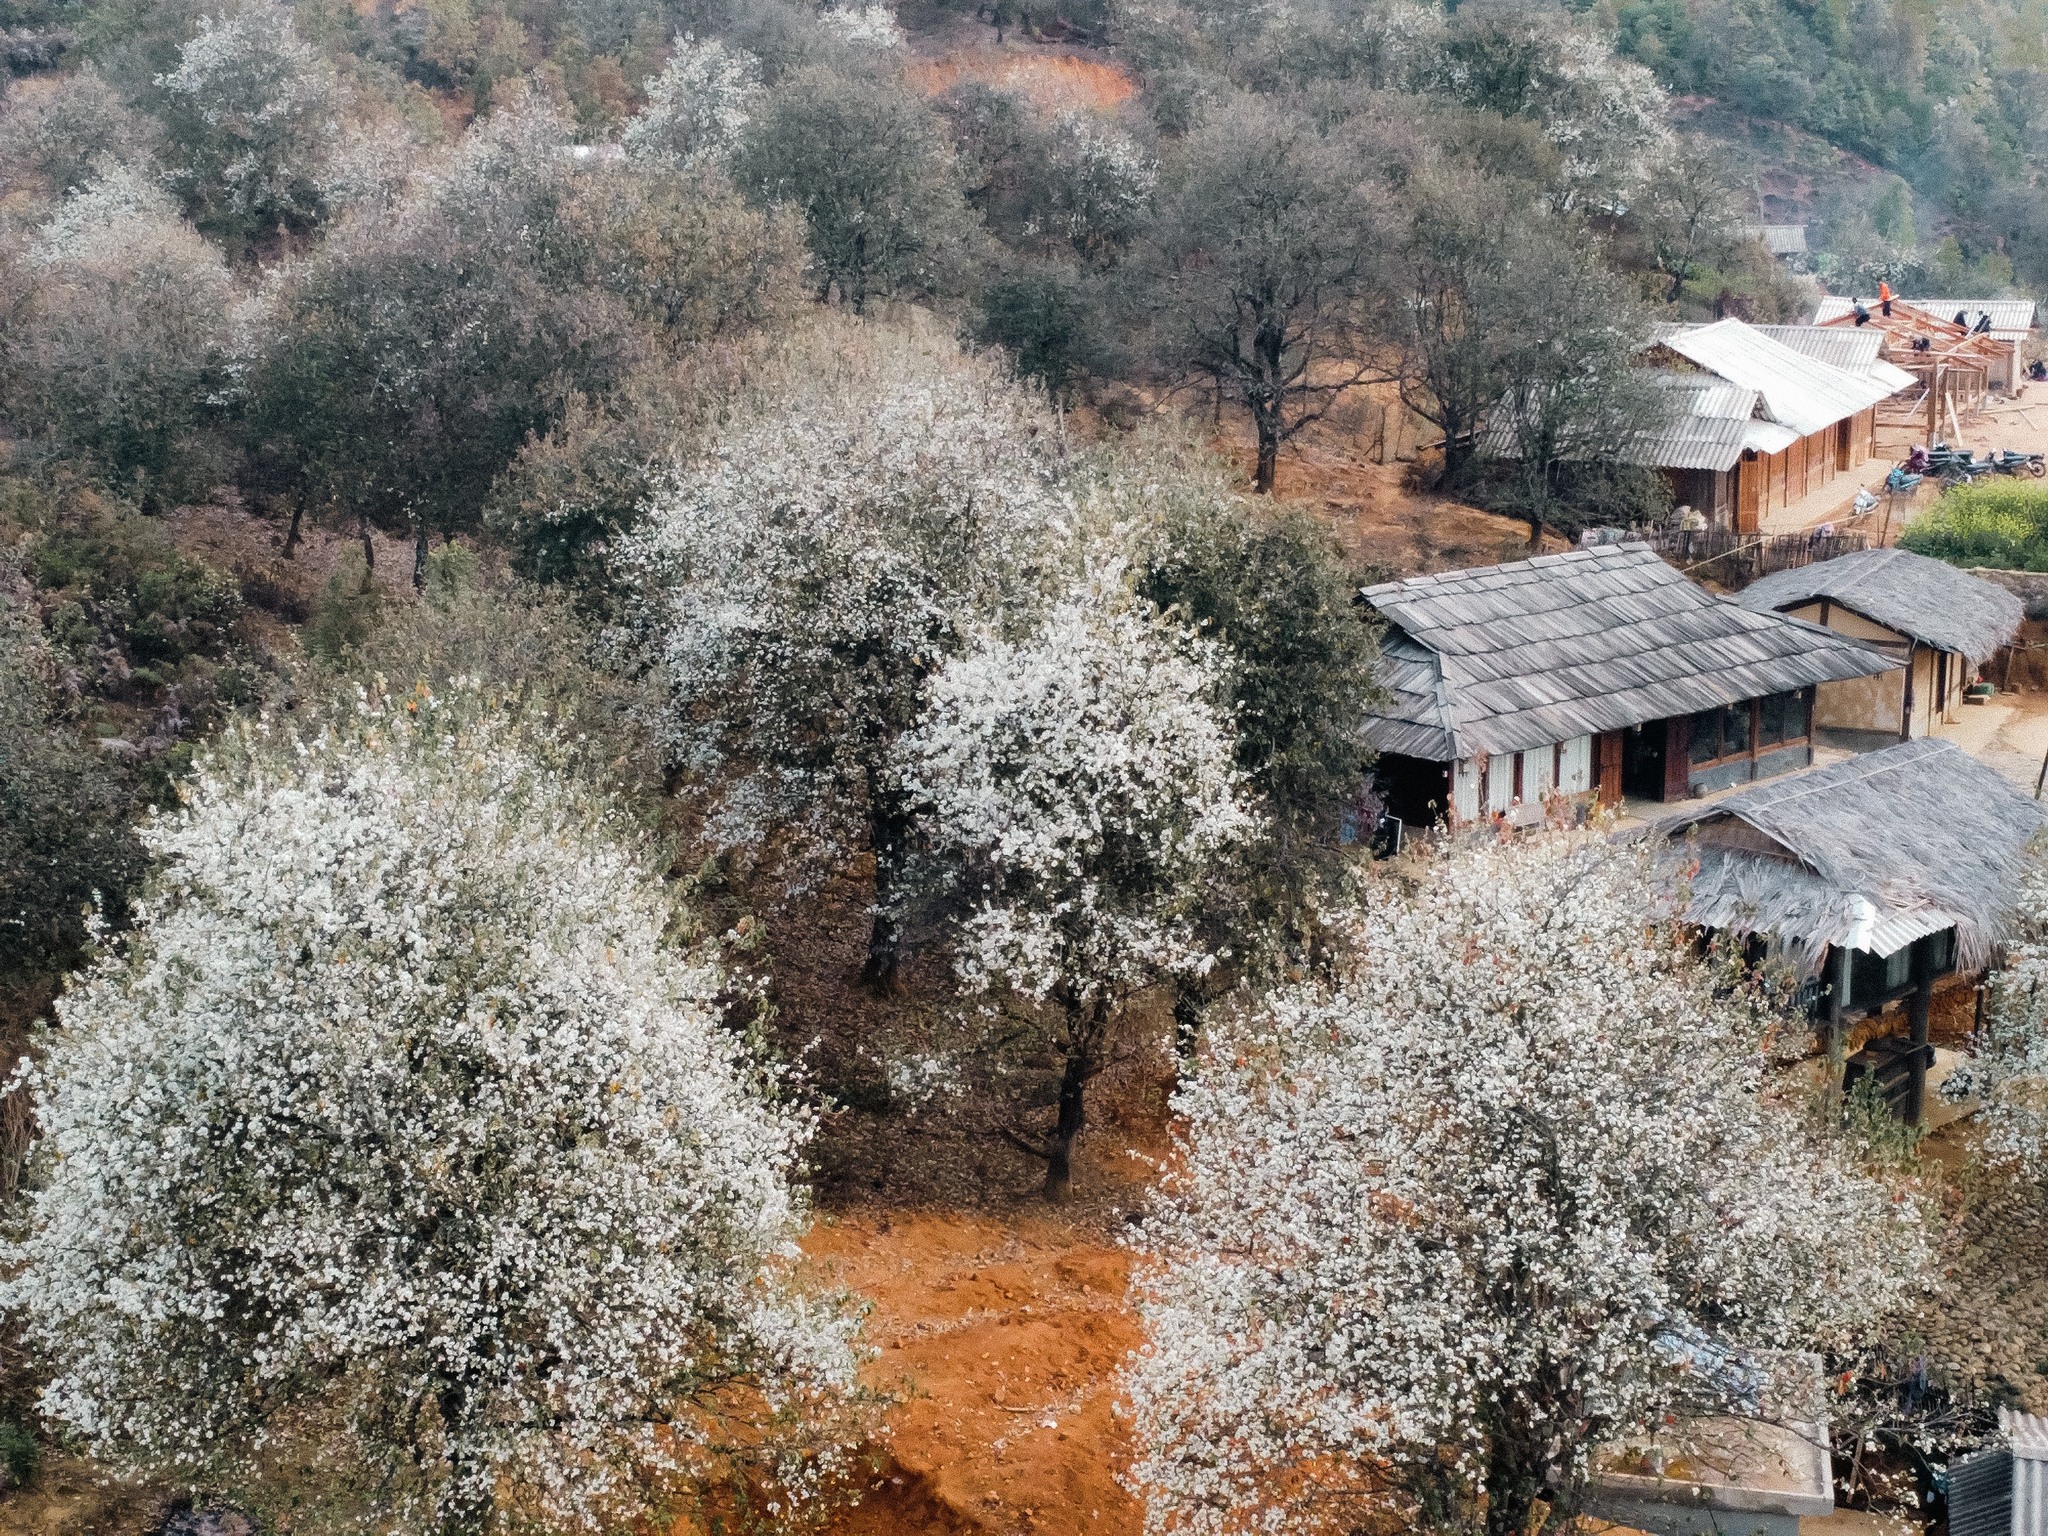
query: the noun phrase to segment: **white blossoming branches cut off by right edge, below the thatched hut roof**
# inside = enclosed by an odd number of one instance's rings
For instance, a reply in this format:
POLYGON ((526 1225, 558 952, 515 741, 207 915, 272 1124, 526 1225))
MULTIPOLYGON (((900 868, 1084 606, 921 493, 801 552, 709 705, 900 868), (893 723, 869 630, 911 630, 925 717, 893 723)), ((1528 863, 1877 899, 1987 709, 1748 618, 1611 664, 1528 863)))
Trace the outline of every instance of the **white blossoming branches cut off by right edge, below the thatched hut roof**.
POLYGON ((2048 862, 2019 883, 2019 936, 1991 973, 1976 1051, 1942 1083, 1946 1098, 1980 1098, 1978 1145, 1995 1163, 2048 1176, 2048 862))

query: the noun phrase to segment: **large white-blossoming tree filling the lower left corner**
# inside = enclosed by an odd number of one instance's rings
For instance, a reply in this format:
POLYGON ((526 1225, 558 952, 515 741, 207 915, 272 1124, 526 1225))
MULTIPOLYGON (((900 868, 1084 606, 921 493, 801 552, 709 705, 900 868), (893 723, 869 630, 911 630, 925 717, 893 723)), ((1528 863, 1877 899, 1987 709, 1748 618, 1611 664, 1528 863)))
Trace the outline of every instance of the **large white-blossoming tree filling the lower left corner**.
POLYGON ((473 692, 256 731, 59 1001, 0 1300, 98 1454, 340 1528, 621 1530, 834 1464, 807 1120, 616 813, 473 692), (766 1464, 764 1464, 766 1462, 766 1464))

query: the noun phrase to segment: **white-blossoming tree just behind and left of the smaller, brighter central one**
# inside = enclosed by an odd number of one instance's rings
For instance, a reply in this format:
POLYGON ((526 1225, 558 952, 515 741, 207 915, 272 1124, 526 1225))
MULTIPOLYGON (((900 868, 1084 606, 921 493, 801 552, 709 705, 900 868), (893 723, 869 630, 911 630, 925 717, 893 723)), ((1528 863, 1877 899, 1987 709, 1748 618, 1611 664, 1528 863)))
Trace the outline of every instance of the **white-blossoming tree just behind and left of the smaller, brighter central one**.
POLYGON ((1063 559, 1063 446, 1036 395, 930 326, 825 324, 780 377, 629 559, 664 733, 719 784, 709 836, 784 836, 813 868, 870 852, 866 979, 889 985, 913 831, 889 754, 926 678, 1063 559))

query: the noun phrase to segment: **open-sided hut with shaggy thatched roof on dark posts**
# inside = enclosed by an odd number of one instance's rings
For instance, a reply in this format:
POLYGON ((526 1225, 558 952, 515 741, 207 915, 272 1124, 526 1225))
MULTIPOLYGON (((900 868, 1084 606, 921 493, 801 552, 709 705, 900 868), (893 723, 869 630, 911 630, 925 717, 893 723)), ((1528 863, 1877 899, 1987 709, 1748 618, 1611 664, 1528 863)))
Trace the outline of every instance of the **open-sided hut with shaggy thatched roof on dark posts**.
POLYGON ((1862 1038, 1860 1065, 1892 1077, 1917 1120, 1935 987, 1989 965, 2042 821, 1954 741, 1919 739, 1745 788, 1653 836, 1696 860, 1686 915, 1788 963, 1829 1049, 1862 1038))

